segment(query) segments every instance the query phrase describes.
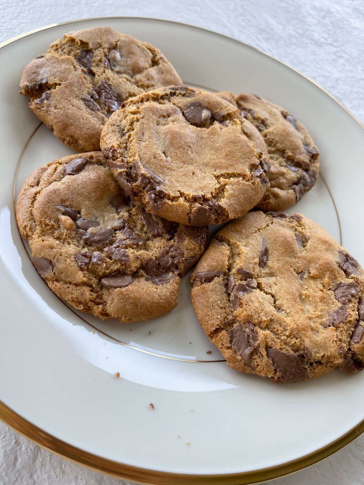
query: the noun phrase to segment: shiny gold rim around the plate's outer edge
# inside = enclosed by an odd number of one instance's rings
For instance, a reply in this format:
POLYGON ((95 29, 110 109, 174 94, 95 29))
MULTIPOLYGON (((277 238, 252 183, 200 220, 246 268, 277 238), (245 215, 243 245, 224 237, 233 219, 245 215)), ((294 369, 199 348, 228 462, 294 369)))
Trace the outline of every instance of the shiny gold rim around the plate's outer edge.
MULTIPOLYGON (((246 44, 245 42, 241 42, 236 40, 232 37, 227 35, 220 34, 218 32, 209 31, 208 29, 203 29, 201 27, 195 27, 193 25, 185 24, 182 22, 174 22, 172 20, 163 20, 159 18, 149 18, 149 17, 122 17, 122 16, 112 16, 112 17, 93 17, 93 18, 82 18, 77 20, 71 20, 68 22, 61 22, 57 24, 51 24, 46 27, 41 27, 40 29, 35 29, 30 32, 26 32, 24 34, 18 35, 17 37, 13 37, 3 43, 0 44, 0 48, 11 44, 12 42, 17 41, 18 39, 22 39, 28 35, 31 35, 36 32, 41 32, 46 29, 51 29, 53 27, 58 27, 60 25, 67 25, 76 22, 84 22, 88 20, 106 20, 110 18, 125 18, 125 19, 140 19, 140 20, 156 20, 159 22, 167 22, 172 24, 184 25, 186 27, 193 27, 194 29, 199 29, 201 31, 214 33, 215 35, 219 35, 221 37, 228 38, 242 44, 244 46, 249 47, 250 49, 257 50, 262 54, 274 59, 275 61, 279 62, 280 64, 292 69, 293 71, 297 72, 301 76, 303 76, 308 81, 312 82, 315 86, 317 86, 321 91, 326 93, 328 96, 331 97, 337 104, 339 104, 363 129, 364 126, 360 121, 350 113, 347 108, 340 103, 335 97, 333 97, 330 93, 328 93, 325 89, 323 89, 319 84, 314 82, 312 79, 308 78, 297 69, 283 63, 279 59, 267 54, 266 52, 256 49, 255 47, 246 44)), ((151 469, 144 469, 139 467, 133 467, 131 465, 126 465, 124 463, 116 462, 113 460, 109 460, 107 458, 103 458, 101 456, 95 455, 93 453, 88 453, 80 448, 76 448, 61 439, 56 438, 55 436, 50 435, 49 433, 44 432, 42 429, 35 426, 28 420, 22 418, 19 414, 13 411, 10 407, 0 401, 0 420, 3 421, 5 424, 13 428, 17 433, 20 433, 22 436, 33 441, 35 444, 41 446, 42 448, 50 451, 51 453, 55 453, 62 458, 66 458, 67 460, 76 463, 78 465, 82 465, 85 468, 92 469, 104 473, 106 475, 111 475, 117 478, 124 478, 126 480, 132 480, 134 482, 146 483, 146 484, 155 484, 155 485, 184 485, 184 484, 212 484, 212 485, 249 485, 258 482, 265 482, 266 480, 272 480, 274 478, 278 478, 284 475, 288 475, 290 473, 294 473, 295 471, 304 469, 309 467, 310 465, 314 465, 320 460, 327 458, 331 454, 337 452, 348 443, 353 441, 356 437, 361 435, 364 432, 364 420, 362 420, 359 424, 351 428, 345 435, 340 436, 336 440, 332 441, 328 445, 316 450, 312 453, 309 453, 305 456, 301 456, 295 460, 282 463, 280 465, 275 465, 273 467, 268 467, 259 470, 252 470, 252 471, 245 471, 241 473, 229 473, 223 475, 196 475, 196 474, 184 474, 184 473, 170 473, 165 471, 158 471, 158 470, 151 470, 151 469)))

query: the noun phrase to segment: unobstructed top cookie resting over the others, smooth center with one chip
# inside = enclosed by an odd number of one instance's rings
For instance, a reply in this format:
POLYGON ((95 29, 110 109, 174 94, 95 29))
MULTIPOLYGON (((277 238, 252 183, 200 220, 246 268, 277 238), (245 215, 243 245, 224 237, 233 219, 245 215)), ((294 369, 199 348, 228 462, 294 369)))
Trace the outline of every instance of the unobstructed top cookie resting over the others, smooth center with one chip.
POLYGON ((150 213, 219 224, 261 200, 270 168, 259 131, 227 101, 187 87, 129 99, 100 146, 121 187, 150 213))

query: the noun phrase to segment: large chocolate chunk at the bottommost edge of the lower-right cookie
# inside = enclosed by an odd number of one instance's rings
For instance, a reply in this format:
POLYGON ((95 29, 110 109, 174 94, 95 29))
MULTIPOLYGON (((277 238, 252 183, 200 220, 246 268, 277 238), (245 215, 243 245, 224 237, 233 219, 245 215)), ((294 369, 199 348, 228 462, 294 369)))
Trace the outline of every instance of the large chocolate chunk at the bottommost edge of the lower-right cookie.
POLYGON ((279 382, 298 382, 307 378, 307 369, 304 369, 302 357, 271 347, 267 347, 265 351, 276 372, 282 374, 278 376, 279 382))

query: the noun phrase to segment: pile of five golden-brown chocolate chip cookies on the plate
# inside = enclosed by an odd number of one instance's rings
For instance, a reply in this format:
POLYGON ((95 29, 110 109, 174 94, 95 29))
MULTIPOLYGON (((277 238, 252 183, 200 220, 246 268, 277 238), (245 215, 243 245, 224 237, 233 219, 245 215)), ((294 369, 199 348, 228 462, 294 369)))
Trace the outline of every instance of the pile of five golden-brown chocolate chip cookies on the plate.
POLYGON ((158 49, 109 28, 67 33, 20 88, 82 152, 38 168, 17 200, 58 296, 101 319, 149 320, 176 307, 199 261, 192 304, 233 369, 297 382, 364 367, 362 268, 283 212, 319 169, 296 118, 257 95, 185 87, 158 49), (207 226, 228 221, 205 251, 207 226))

